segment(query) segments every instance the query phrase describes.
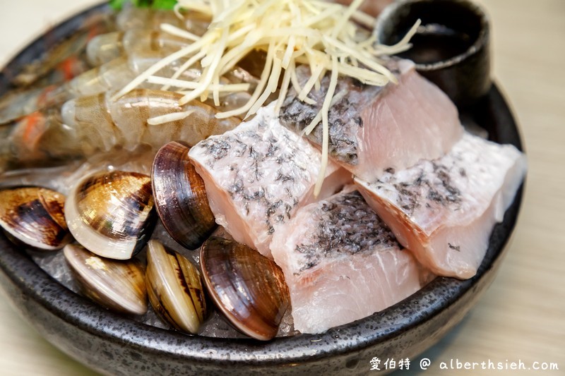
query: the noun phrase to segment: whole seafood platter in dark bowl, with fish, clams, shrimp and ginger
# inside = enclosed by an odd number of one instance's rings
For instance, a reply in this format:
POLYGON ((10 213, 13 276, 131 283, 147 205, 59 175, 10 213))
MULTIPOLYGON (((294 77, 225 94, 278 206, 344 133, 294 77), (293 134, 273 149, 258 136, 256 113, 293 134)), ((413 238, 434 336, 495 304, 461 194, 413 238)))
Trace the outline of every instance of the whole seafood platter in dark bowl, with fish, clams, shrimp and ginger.
POLYGON ((484 10, 385 2, 111 1, 23 49, 20 313, 116 375, 365 374, 436 343, 494 279, 526 159, 484 10))

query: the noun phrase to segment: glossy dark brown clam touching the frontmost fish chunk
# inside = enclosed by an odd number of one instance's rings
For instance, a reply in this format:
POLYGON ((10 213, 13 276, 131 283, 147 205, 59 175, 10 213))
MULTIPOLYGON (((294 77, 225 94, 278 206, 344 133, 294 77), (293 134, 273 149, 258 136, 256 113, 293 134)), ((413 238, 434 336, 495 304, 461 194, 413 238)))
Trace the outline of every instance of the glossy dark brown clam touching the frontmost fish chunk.
POLYGON ((211 237, 200 265, 213 302, 234 327, 255 339, 272 339, 290 305, 283 271, 246 245, 211 237))

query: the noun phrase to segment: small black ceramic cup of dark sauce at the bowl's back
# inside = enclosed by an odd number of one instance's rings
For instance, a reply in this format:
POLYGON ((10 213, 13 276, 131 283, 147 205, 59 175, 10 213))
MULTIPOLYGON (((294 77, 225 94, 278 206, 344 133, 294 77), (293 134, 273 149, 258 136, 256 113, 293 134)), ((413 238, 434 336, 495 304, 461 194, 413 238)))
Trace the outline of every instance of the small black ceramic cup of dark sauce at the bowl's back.
POLYGON ((377 40, 399 42, 418 19, 412 48, 400 56, 414 61, 458 107, 475 104, 492 85, 487 14, 468 0, 401 0, 377 18, 377 40))

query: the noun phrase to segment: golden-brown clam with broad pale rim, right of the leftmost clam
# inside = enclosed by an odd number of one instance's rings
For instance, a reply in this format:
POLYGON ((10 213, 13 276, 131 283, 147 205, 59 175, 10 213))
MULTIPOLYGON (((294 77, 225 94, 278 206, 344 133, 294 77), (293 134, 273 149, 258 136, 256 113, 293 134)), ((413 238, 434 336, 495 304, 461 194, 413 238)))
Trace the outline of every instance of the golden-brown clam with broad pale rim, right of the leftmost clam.
POLYGON ((145 246, 157 219, 150 177, 124 171, 83 178, 69 193, 65 212, 78 243, 117 260, 127 260, 145 246))

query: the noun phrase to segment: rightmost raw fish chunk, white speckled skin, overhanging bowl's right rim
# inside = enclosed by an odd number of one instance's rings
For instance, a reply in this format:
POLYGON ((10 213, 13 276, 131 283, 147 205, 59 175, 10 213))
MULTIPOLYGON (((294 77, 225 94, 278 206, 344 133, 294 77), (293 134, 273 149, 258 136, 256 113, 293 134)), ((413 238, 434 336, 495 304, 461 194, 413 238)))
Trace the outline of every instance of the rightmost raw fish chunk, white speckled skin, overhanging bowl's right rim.
POLYGON ((521 185, 525 155, 465 133, 441 159, 355 179, 369 205, 425 267, 445 277, 475 275, 496 222, 521 185))

